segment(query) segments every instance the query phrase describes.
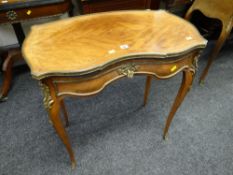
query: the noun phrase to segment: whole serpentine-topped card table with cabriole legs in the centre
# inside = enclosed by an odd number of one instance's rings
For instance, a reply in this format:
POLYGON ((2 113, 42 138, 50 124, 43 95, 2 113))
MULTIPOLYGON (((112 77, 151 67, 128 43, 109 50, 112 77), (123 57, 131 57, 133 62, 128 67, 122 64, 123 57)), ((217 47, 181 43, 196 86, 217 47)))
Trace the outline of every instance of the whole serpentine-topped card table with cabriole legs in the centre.
POLYGON ((120 78, 147 75, 146 104, 152 77, 168 79, 182 72, 165 138, 206 43, 193 25, 165 11, 119 11, 34 26, 23 54, 32 76, 40 81, 44 106, 74 167, 73 150, 59 116, 62 109, 68 125, 65 97, 94 95, 120 78))

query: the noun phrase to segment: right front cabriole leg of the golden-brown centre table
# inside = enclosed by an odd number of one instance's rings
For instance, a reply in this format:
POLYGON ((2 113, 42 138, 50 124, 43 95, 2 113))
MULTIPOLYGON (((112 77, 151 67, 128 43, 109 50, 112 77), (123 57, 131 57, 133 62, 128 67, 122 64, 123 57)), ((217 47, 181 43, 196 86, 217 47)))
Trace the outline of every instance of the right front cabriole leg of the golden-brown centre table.
POLYGON ((164 132, 163 132, 163 139, 166 139, 168 129, 170 127, 172 119, 173 119, 177 109, 179 108, 179 106, 183 102, 183 100, 184 100, 187 92, 189 91, 190 87, 192 86, 193 77, 194 77, 194 72, 193 71, 191 71, 189 69, 186 69, 186 70, 183 71, 182 84, 181 84, 179 92, 178 92, 178 94, 176 96, 175 102, 172 105, 171 111, 170 111, 170 113, 168 115, 166 125, 165 125, 165 128, 164 128, 164 132))

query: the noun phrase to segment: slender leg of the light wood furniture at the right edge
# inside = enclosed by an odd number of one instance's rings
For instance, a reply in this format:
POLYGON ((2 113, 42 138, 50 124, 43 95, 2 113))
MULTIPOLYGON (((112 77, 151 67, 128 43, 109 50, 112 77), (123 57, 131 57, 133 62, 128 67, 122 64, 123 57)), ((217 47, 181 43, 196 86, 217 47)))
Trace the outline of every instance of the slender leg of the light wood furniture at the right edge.
POLYGON ((210 69, 210 66, 212 65, 214 59, 216 58, 216 56, 218 55, 220 49, 222 48, 223 44, 225 43, 227 37, 229 36, 230 32, 231 32, 231 29, 232 29, 232 26, 230 28, 228 28, 228 25, 223 25, 222 27, 222 31, 221 31, 221 34, 215 44, 215 47, 211 53, 211 55, 209 56, 208 58, 208 62, 207 62, 207 65, 204 69, 204 71, 202 72, 201 74, 201 77, 200 77, 200 80, 199 80, 199 83, 203 83, 207 74, 208 74, 208 71, 210 69))

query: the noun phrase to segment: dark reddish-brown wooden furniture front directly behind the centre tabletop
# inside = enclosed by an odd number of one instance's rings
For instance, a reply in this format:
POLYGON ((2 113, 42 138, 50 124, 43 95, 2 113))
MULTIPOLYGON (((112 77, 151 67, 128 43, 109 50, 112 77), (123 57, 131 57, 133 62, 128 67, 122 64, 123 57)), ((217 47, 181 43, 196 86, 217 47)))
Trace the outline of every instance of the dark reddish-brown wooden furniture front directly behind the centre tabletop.
POLYGON ((87 14, 112 10, 147 9, 150 8, 150 0, 83 1, 82 5, 84 14, 87 14))

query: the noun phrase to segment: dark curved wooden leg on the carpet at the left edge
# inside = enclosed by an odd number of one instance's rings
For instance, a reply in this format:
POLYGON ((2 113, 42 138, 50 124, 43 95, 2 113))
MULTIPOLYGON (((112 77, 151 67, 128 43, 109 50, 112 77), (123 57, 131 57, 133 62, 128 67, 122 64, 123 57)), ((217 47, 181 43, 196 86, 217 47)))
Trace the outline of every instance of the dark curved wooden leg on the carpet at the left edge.
POLYGON ((7 99, 12 81, 12 67, 15 60, 21 59, 22 55, 19 49, 9 50, 2 65, 3 71, 3 84, 0 92, 0 101, 7 99))

